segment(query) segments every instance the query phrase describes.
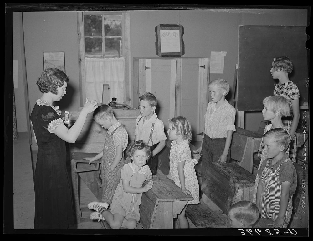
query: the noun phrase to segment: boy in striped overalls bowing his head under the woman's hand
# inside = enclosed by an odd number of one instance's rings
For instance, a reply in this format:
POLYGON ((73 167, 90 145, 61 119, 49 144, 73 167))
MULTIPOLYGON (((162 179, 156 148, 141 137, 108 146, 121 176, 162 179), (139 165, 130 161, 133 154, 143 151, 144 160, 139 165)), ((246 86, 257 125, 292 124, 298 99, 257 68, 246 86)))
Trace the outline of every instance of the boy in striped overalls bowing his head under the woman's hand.
MULTIPOLYGON (((128 144, 128 134, 114 116, 113 109, 108 105, 101 105, 95 109, 93 118, 102 128, 107 129, 103 150, 94 157, 84 158, 89 164, 102 157, 101 179, 102 199, 101 202, 111 204, 117 184, 121 178, 121 169, 125 164, 124 150, 128 144)), ((106 207, 107 208, 107 207, 106 207)))

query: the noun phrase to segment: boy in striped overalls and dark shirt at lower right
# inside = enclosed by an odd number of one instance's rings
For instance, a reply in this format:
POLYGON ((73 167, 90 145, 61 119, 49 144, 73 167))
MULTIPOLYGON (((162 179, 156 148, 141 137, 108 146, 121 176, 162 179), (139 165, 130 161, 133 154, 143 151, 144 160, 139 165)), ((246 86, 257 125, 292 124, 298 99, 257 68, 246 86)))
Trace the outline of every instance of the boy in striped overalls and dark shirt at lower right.
POLYGON ((274 128, 263 136, 266 159, 258 170, 260 176, 256 206, 261 218, 269 218, 272 228, 286 228, 292 213, 292 195, 297 187, 297 173, 286 149, 290 135, 274 128))

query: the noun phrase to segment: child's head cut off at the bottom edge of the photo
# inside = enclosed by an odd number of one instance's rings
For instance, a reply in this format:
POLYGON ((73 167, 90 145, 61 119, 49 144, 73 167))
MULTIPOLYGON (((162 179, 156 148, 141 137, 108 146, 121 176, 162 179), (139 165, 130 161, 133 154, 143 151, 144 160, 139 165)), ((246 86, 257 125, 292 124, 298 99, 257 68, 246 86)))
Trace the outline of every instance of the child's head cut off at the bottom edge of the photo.
POLYGON ((259 210, 250 201, 240 201, 228 209, 231 228, 252 228, 259 218, 259 210))

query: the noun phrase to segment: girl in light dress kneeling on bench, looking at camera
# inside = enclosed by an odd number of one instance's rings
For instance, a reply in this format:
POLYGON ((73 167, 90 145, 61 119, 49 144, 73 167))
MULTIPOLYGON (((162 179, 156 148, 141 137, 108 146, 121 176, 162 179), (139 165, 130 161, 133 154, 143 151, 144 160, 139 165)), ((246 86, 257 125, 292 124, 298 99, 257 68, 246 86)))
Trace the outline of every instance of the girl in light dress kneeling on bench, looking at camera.
POLYGON ((106 220, 112 229, 121 227, 134 229, 140 219, 139 205, 142 193, 150 190, 153 185, 152 173, 146 165, 151 156, 151 149, 142 140, 138 140, 127 148, 132 162, 121 169, 121 180, 117 185, 112 199, 110 211, 106 202, 90 202, 89 209, 96 212, 90 214, 90 219, 106 220), (147 184, 142 187, 144 181, 147 184))

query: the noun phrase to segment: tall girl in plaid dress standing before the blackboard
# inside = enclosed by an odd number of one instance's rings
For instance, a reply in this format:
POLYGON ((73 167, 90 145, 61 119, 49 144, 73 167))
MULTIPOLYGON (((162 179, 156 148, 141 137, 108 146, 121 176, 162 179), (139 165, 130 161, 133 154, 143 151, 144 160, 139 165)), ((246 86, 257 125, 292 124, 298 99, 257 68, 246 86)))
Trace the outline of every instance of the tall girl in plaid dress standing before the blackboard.
MULTIPOLYGON (((289 80, 288 74, 293 70, 290 59, 286 56, 274 58, 270 70, 273 79, 278 79, 279 83, 275 85, 274 95, 285 97, 289 101, 291 116, 282 118, 282 122, 290 133, 293 140, 290 143, 289 158, 297 161, 297 137, 296 130, 300 119, 299 98, 300 92, 298 87, 289 80)), ((264 148, 264 146, 263 146, 264 148)), ((261 148, 260 148, 261 150, 261 148)), ((261 151, 259 150, 259 157, 261 151)))

